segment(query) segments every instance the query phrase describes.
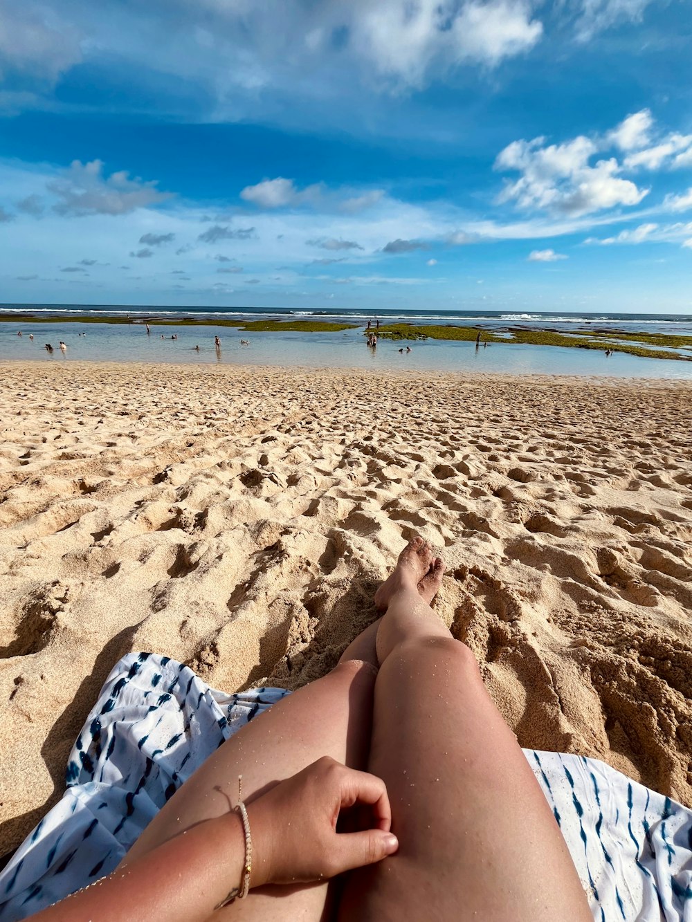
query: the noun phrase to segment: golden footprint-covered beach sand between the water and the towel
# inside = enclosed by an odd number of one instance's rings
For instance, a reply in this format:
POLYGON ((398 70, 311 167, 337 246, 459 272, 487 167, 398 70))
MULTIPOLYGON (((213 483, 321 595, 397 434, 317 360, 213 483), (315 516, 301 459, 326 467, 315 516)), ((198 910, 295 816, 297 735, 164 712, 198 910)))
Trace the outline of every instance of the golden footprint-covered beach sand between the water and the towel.
POLYGON ((413 534, 526 747, 692 805, 692 385, 6 362, 0 855, 119 656, 296 688, 413 534))

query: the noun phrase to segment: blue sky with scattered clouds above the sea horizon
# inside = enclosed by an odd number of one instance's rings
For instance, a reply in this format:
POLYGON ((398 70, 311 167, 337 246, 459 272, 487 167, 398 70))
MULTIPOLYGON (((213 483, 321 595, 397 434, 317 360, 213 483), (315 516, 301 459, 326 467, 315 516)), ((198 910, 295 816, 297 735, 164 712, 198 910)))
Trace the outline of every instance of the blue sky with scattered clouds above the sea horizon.
POLYGON ((692 313, 692 0, 0 0, 0 301, 692 313))

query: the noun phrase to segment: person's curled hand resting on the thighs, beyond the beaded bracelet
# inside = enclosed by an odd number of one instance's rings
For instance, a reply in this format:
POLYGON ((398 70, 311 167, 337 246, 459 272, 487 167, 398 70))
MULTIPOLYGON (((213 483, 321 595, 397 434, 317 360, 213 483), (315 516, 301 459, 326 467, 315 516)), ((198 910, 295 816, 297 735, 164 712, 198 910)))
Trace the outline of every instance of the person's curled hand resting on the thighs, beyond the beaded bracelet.
POLYGON ((399 848, 389 832, 384 781, 328 756, 247 804, 253 841, 251 886, 306 883, 374 864, 399 848), (337 833, 340 810, 372 808, 372 828, 337 833))

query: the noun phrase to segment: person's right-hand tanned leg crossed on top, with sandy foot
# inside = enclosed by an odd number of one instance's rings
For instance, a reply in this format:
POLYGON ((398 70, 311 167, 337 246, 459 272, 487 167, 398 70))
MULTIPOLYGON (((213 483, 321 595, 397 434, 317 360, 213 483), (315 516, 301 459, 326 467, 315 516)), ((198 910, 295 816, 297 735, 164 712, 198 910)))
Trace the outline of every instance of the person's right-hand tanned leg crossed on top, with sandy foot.
POLYGON ((591 922, 541 788, 471 650, 417 591, 441 582, 420 538, 378 593, 368 771, 387 784, 399 852, 355 871, 340 919, 591 922))

